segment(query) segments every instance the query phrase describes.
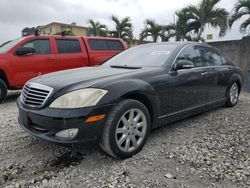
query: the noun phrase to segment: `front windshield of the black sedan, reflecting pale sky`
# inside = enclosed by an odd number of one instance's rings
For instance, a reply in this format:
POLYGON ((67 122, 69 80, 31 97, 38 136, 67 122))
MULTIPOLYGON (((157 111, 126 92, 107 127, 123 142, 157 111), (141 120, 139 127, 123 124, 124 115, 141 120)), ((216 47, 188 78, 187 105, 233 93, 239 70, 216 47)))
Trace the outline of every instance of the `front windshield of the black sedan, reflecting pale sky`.
POLYGON ((176 44, 167 43, 133 47, 109 59, 103 66, 160 67, 176 47, 176 44))

